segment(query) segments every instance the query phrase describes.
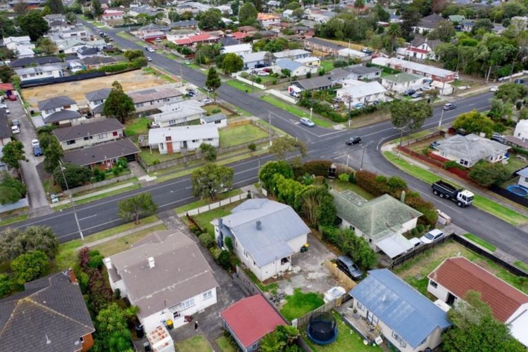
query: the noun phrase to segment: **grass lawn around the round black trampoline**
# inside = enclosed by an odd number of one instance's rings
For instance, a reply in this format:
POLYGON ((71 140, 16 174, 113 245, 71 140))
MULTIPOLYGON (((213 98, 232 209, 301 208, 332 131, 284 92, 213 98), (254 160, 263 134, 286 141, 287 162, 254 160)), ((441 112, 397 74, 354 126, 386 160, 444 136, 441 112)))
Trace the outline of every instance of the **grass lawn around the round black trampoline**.
POLYGON ((349 325, 347 325, 344 320, 340 317, 338 312, 332 311, 336 321, 338 322, 338 338, 335 342, 327 344, 325 346, 320 346, 312 342, 306 336, 306 329, 300 329, 301 334, 303 335, 304 340, 307 342, 309 347, 314 352, 342 352, 342 351, 354 351, 354 352, 370 352, 370 351, 383 351, 380 347, 377 346, 365 346, 363 344, 363 338, 358 335, 349 325))

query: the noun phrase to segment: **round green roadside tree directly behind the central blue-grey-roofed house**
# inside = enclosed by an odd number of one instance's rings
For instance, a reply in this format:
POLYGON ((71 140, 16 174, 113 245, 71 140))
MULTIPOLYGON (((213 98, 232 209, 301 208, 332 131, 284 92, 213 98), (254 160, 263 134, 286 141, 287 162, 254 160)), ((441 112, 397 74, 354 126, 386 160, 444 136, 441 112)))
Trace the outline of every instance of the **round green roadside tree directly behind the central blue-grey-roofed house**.
POLYGON ((234 170, 227 166, 210 163, 197 168, 190 177, 192 195, 216 199, 221 192, 232 188, 233 176, 234 170))

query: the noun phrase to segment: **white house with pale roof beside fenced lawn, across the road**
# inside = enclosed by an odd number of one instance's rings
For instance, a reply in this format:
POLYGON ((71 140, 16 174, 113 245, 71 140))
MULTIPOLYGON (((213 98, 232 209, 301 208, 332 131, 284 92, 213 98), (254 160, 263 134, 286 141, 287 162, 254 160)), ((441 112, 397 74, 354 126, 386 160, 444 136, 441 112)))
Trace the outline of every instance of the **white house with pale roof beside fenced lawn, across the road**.
POLYGON ((220 146, 218 127, 214 124, 160 127, 148 130, 148 145, 159 154, 195 151, 202 143, 220 146))

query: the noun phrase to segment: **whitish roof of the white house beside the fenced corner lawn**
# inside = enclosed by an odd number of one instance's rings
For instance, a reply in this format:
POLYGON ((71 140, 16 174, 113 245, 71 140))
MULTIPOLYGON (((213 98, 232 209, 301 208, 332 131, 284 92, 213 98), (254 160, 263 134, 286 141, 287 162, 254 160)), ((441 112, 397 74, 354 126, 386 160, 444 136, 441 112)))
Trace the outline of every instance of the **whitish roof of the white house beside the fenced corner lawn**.
POLYGON ((207 140, 208 138, 219 138, 218 128, 214 124, 193 124, 188 126, 162 127, 148 130, 148 144, 159 144, 166 142, 170 136, 171 142, 184 140, 207 140))

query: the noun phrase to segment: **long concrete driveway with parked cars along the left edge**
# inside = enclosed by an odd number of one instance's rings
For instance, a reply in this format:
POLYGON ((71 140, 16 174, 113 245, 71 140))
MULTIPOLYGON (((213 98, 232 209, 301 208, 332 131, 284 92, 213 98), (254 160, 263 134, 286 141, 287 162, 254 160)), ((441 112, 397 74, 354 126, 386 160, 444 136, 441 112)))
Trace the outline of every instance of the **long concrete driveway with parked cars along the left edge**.
POLYGON ((30 199, 30 217, 51 214, 53 210, 47 201, 39 173, 36 171, 37 164, 43 162, 44 157, 33 155, 31 140, 36 139, 36 132, 30 121, 31 117, 25 114, 20 98, 14 102, 8 100, 7 104, 10 110, 10 120, 20 121, 20 133, 14 137, 24 144, 25 157, 29 160, 28 162, 21 162, 20 169, 30 199))

